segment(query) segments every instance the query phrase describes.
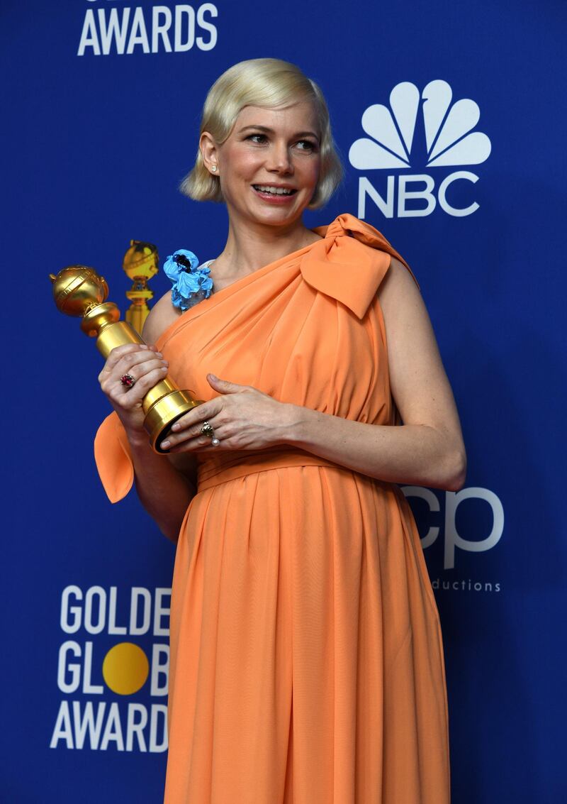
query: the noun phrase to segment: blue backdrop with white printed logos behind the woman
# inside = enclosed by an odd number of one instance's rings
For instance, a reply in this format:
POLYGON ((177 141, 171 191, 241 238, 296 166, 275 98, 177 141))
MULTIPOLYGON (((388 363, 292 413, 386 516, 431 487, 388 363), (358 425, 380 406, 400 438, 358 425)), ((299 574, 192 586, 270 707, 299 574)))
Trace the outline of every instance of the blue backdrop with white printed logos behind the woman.
POLYGON ((308 225, 350 211, 402 252, 459 405, 466 486, 406 489, 443 625, 455 804, 567 800, 565 16, 551 0, 3 3, 2 801, 161 801, 173 546, 135 494, 104 495, 100 355, 47 274, 93 265, 124 310, 130 238, 218 253, 223 208, 177 183, 207 88, 259 56, 328 98, 346 180, 308 225))

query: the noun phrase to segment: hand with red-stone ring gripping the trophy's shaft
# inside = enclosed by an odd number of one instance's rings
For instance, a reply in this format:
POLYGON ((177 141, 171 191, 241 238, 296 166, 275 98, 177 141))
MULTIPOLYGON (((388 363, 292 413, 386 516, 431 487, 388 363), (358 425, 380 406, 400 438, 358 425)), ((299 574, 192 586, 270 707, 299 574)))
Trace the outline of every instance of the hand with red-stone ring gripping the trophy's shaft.
POLYGON ((150 388, 165 378, 168 365, 156 347, 146 346, 145 343, 128 343, 112 349, 108 355, 99 375, 100 388, 127 433, 145 433, 142 400, 150 388), (133 376, 135 383, 132 387, 128 388, 120 382, 124 374, 133 376))

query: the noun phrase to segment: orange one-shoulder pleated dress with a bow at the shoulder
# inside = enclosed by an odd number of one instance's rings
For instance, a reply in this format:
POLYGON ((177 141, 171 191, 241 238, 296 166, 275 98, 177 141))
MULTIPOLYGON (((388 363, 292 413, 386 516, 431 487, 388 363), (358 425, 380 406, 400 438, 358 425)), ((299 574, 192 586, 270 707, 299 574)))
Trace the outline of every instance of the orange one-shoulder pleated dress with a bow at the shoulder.
MULTIPOLYGON (((313 231, 157 346, 203 400, 211 371, 395 426, 377 289, 399 255, 353 215, 313 231)), ((198 457, 173 572, 165 804, 447 804, 439 613, 401 490, 285 445, 198 457)), ((96 460, 123 497, 115 413, 96 460)))

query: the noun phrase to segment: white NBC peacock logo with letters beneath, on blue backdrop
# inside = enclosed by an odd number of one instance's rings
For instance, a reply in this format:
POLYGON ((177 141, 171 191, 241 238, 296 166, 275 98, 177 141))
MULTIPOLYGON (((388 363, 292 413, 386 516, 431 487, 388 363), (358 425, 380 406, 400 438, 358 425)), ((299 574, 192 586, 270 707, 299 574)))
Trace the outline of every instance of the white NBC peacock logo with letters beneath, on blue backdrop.
POLYGON ((447 81, 430 81, 421 93, 415 84, 403 81, 390 92, 390 109, 374 104, 365 110, 361 124, 368 137, 350 146, 351 165, 364 171, 422 172, 382 174, 372 181, 367 174, 360 176, 359 218, 365 218, 367 199, 386 218, 430 215, 438 203, 447 215, 459 218, 479 208, 470 198, 470 186, 463 184, 475 184, 478 175, 455 170, 441 177, 439 170, 433 170, 479 165, 491 152, 487 135, 473 130, 480 119, 479 105, 470 98, 452 100, 447 81))

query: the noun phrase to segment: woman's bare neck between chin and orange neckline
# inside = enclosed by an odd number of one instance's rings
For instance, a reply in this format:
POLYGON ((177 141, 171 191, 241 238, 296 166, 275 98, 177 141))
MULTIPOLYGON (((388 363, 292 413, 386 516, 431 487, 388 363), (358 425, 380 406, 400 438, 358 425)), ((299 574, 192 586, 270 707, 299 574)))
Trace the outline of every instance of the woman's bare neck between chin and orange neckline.
POLYGON ((229 218, 226 245, 214 260, 218 278, 239 278, 320 240, 298 219, 287 226, 245 224, 229 218))

